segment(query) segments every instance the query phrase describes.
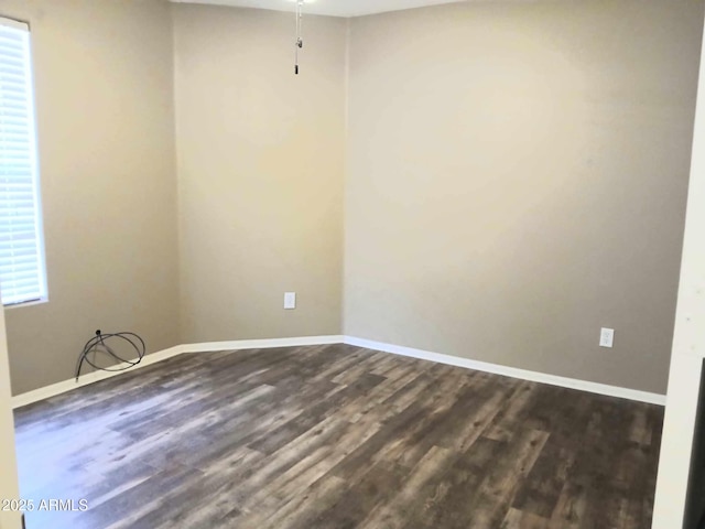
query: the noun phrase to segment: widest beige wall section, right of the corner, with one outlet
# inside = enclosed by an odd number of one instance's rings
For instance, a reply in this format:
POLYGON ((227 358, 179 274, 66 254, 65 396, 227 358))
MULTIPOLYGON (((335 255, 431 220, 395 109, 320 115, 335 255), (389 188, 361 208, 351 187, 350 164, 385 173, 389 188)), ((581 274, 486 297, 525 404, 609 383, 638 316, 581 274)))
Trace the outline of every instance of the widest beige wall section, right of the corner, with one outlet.
POLYGON ((702 24, 641 0, 352 20, 345 333, 664 392, 702 24))

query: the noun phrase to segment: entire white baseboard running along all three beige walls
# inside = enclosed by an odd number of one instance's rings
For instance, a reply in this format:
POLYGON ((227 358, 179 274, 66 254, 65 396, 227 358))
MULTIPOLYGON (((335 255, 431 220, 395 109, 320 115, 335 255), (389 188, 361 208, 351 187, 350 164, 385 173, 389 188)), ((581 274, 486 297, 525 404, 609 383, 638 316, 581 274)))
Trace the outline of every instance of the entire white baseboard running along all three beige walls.
MULTIPOLYGON (((354 336, 302 336, 292 338, 272 338, 272 339, 236 339, 230 342, 206 342, 202 344, 184 344, 169 349, 160 350, 147 355, 140 364, 133 367, 147 367, 158 361, 165 360, 182 353, 208 353, 214 350, 241 350, 241 349, 264 349, 272 347, 300 347, 305 345, 328 345, 328 344, 349 344, 368 349, 382 350, 394 355, 409 356, 423 360, 437 361, 451 366, 475 369, 478 371, 492 373, 503 375, 506 377, 519 378, 522 380, 531 380, 534 382, 550 384, 551 386, 560 386, 563 388, 578 389, 590 393, 607 395, 610 397, 619 397, 622 399, 636 400, 640 402, 649 402, 652 404, 665 406, 665 396, 659 393, 650 393, 636 389, 620 388, 618 386, 608 386, 605 384, 590 382, 587 380, 578 380, 575 378, 558 377, 555 375, 546 375, 544 373, 529 371, 514 367, 500 366, 497 364, 488 364, 485 361, 471 360, 459 356, 443 355, 429 350, 414 349, 412 347, 403 347, 400 345, 384 344, 373 342, 371 339, 356 338, 354 336)), ((48 399, 56 395, 77 389, 89 384, 115 377, 126 371, 94 371, 82 375, 78 381, 75 379, 64 380, 53 384, 44 388, 35 389, 26 393, 12 397, 12 408, 31 404, 33 402, 48 399)))

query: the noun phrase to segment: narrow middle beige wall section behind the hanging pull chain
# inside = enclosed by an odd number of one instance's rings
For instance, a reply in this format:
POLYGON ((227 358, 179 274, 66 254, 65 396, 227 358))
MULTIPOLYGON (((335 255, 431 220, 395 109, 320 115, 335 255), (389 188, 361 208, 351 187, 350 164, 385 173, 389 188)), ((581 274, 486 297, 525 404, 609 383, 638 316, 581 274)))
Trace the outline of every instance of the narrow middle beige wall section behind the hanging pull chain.
POLYGON ((174 7, 184 342, 340 333, 346 21, 174 7), (283 310, 283 293, 297 309, 283 310))

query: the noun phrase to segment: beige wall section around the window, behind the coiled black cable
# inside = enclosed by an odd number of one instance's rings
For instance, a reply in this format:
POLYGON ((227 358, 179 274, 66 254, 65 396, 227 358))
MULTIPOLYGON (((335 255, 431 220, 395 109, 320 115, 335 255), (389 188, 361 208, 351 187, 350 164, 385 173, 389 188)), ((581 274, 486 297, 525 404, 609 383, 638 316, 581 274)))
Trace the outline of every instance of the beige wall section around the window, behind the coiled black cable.
POLYGON ((169 9, 0 0, 32 28, 50 296, 6 311, 14 393, 70 378, 96 328, 181 343, 169 9))

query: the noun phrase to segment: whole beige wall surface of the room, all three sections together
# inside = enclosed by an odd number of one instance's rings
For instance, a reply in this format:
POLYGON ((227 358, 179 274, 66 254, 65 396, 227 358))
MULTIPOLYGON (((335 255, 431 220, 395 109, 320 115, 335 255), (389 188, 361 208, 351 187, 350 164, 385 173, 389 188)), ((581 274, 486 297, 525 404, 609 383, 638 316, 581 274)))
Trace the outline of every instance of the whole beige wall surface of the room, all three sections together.
POLYGON ((69 378, 98 327, 156 350, 341 320, 664 391, 702 1, 355 19, 347 72, 348 22, 307 17, 297 77, 290 13, 0 0, 0 14, 33 29, 51 299, 7 313, 14 393, 69 378))

